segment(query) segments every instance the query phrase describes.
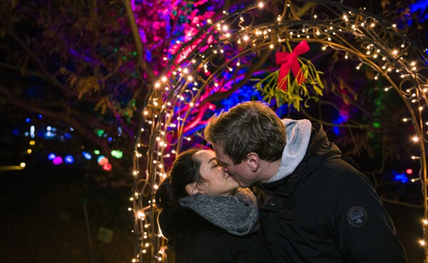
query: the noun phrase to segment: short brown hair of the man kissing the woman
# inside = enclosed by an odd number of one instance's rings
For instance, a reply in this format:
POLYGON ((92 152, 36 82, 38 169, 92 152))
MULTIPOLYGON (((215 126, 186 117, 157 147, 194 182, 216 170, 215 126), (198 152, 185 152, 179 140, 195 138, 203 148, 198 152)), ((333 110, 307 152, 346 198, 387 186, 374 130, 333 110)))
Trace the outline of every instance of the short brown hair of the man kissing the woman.
POLYGON ((246 101, 208 121, 204 137, 220 145, 234 165, 257 153, 268 162, 279 160, 287 143, 287 130, 275 111, 260 101, 246 101))

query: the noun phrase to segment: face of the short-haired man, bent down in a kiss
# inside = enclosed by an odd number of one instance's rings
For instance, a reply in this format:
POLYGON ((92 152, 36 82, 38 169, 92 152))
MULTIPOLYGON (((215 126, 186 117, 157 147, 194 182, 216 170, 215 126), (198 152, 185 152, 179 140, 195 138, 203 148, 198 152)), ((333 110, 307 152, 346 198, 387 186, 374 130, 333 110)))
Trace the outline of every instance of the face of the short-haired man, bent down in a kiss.
POLYGON ((228 155, 225 155, 221 145, 213 145, 215 155, 223 170, 228 172, 230 177, 233 177, 240 187, 250 187, 254 182, 257 182, 255 173, 250 169, 248 163, 243 160, 238 165, 234 165, 228 155))

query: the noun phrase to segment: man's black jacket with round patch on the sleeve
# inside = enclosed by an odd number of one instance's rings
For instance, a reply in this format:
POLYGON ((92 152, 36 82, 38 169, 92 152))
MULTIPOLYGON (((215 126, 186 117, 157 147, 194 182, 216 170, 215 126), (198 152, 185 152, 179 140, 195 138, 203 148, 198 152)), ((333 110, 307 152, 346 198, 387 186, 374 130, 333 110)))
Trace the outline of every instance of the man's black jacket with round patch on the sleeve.
POLYGON ((405 263, 372 182, 312 125, 295 172, 259 185, 260 220, 277 263, 405 263))

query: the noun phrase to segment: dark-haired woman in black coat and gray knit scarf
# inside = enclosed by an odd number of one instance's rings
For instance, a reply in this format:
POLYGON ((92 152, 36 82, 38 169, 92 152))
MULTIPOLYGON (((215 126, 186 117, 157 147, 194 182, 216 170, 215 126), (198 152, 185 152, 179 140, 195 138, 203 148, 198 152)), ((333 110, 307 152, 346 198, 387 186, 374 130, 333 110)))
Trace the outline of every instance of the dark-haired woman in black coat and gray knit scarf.
POLYGON ((213 150, 187 150, 156 191, 158 225, 175 263, 272 262, 249 189, 223 172, 213 150))

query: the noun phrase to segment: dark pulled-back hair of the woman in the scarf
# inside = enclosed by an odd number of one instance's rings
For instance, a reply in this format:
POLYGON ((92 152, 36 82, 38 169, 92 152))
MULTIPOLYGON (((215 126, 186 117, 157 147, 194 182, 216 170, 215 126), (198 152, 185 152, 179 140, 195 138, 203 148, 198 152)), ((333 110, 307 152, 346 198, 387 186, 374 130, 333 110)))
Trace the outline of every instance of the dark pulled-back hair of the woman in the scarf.
POLYGON ((192 148, 180 153, 174 160, 170 175, 163 180, 155 193, 156 206, 161 210, 178 206, 180 198, 188 196, 185 186, 196 182, 197 185, 205 182, 200 175, 200 160, 195 153, 202 148, 192 148))

